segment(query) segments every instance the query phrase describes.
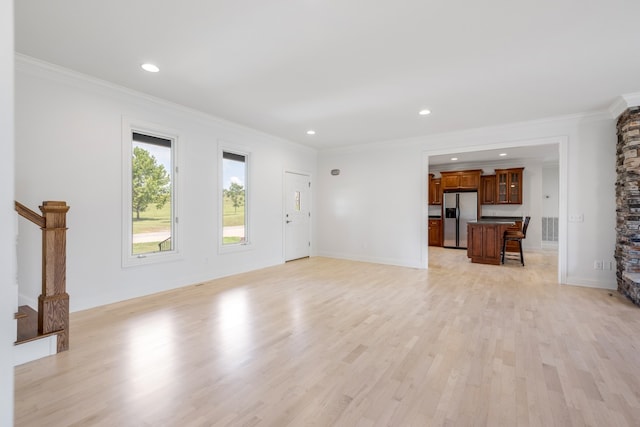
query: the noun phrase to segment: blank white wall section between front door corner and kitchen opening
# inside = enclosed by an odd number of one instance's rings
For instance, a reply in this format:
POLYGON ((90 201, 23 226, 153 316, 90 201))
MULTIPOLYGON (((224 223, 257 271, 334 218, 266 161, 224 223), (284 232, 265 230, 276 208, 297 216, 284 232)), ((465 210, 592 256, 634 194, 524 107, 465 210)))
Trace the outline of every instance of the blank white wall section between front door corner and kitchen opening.
POLYGON ((319 158, 319 254, 419 266, 427 213, 420 147, 336 150, 319 158))

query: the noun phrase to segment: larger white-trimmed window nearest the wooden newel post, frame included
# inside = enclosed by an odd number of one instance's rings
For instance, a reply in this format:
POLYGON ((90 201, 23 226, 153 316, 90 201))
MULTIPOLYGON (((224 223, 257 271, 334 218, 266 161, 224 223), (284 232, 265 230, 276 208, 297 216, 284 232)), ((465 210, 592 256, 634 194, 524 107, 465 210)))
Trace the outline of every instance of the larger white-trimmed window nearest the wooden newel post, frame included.
POLYGON ((123 265, 175 257, 177 136, 123 126, 123 265))

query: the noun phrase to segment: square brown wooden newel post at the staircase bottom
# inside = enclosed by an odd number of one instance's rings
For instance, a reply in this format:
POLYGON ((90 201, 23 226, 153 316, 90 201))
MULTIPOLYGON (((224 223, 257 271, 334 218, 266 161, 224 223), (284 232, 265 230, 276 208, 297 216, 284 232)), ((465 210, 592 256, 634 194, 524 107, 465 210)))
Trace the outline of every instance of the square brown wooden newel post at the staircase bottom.
POLYGON ((42 202, 42 294, 38 297, 38 332, 58 334, 58 352, 69 349, 67 294, 67 211, 65 202, 42 202))

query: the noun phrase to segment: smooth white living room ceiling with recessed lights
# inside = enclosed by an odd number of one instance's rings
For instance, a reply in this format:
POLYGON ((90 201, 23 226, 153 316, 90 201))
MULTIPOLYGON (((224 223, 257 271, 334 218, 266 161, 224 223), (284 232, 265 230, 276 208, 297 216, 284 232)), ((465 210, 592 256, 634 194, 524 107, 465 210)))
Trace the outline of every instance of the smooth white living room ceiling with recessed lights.
POLYGON ((21 54, 320 149, 601 111, 640 90, 638 0, 20 0, 15 13, 21 54))

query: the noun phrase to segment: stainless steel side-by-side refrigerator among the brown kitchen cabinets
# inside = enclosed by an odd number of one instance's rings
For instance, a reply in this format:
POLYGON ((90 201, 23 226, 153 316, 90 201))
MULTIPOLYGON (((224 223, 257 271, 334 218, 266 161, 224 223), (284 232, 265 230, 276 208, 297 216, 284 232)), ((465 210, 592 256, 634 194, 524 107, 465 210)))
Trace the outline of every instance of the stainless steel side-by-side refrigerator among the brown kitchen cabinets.
POLYGON ((478 219, 478 192, 444 193, 444 244, 446 248, 467 247, 467 222, 478 219))

